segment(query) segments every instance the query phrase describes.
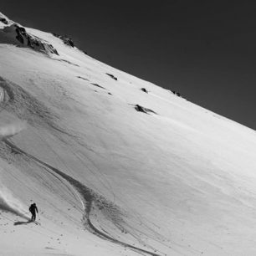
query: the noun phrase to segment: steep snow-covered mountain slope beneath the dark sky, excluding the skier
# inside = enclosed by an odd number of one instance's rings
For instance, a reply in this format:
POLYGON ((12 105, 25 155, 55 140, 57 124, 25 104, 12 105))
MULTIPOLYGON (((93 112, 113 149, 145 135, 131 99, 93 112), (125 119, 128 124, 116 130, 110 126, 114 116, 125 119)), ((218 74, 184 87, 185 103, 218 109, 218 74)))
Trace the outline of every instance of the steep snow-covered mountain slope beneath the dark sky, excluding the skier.
POLYGON ((0 255, 256 255, 255 131, 17 26, 0 13, 0 255))

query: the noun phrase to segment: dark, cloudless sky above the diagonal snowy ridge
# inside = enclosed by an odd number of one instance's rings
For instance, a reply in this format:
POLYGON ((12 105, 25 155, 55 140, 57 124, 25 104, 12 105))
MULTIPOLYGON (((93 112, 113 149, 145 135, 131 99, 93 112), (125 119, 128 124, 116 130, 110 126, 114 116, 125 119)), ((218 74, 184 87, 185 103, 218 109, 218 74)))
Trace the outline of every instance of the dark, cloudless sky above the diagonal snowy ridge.
POLYGON ((256 3, 150 2, 1 0, 0 12, 256 130, 256 3))

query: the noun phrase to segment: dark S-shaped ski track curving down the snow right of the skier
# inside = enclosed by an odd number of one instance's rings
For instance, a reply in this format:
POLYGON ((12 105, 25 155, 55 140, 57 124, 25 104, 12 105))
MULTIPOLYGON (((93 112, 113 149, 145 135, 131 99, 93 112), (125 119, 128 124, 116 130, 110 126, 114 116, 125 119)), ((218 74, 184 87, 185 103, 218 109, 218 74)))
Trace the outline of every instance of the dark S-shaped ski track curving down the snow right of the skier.
MULTIPOLYGON (((161 256, 160 254, 152 253, 145 249, 137 248, 136 246, 133 246, 131 244, 121 242, 120 240, 117 240, 117 239, 111 237, 109 234, 100 231, 100 229, 96 228, 95 225, 91 222, 90 211, 91 211, 91 207, 92 207, 93 203, 95 202, 95 200, 98 199, 97 197, 101 197, 101 196, 98 196, 89 187, 84 186, 84 184, 80 183, 79 181, 75 180, 73 177, 70 177, 69 175, 65 174, 64 172, 59 171, 59 169, 55 168, 54 166, 50 166, 48 163, 45 163, 44 161, 39 160, 37 157, 32 156, 32 155, 28 154, 27 152, 23 151, 22 149, 20 149, 18 146, 15 146, 12 142, 8 141, 7 139, 3 139, 3 141, 13 151, 18 151, 18 153, 22 154, 23 156, 27 156, 29 159, 35 161, 39 165, 47 167, 47 169, 50 170, 50 171, 48 171, 48 172, 50 172, 50 174, 52 174, 52 175, 54 175, 54 173, 58 174, 59 177, 62 177, 65 181, 69 182, 69 184, 72 187, 75 188, 76 194, 78 192, 79 195, 82 197, 82 199, 81 199, 80 196, 77 195, 80 199, 80 202, 82 203, 82 205, 84 207, 84 217, 83 217, 84 227, 87 228, 91 233, 94 233, 98 237, 104 238, 112 243, 119 244, 119 245, 123 246, 124 248, 130 248, 131 250, 134 250, 137 253, 141 253, 141 254, 146 253, 146 254, 152 255, 152 256, 161 256)), ((54 175, 54 177, 56 177, 56 176, 54 175)))

